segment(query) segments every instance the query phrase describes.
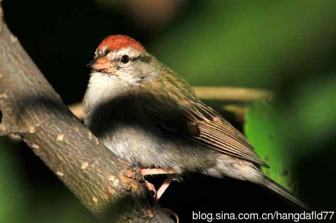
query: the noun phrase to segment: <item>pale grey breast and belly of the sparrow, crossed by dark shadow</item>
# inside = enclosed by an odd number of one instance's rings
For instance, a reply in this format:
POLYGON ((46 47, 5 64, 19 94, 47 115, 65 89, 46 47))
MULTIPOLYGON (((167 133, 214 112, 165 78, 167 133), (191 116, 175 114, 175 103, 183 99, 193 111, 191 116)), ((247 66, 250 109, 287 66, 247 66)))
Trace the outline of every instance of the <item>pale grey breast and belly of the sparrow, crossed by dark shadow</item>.
POLYGON ((207 150, 163 129, 143 113, 137 98, 116 94, 115 85, 113 92, 109 92, 109 85, 90 80, 83 106, 85 124, 113 153, 144 168, 203 168, 207 150), (92 87, 95 84, 99 88, 92 87))

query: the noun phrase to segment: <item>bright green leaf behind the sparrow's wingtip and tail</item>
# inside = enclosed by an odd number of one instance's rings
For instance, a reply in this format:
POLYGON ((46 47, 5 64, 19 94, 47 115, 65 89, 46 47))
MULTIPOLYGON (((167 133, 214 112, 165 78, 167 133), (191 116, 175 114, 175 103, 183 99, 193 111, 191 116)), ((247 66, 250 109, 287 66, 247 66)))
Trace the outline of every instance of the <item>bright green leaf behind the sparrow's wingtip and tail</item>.
POLYGON ((276 116, 271 103, 254 103, 246 112, 244 131, 256 153, 270 166, 261 171, 293 192, 292 159, 274 121, 276 116))

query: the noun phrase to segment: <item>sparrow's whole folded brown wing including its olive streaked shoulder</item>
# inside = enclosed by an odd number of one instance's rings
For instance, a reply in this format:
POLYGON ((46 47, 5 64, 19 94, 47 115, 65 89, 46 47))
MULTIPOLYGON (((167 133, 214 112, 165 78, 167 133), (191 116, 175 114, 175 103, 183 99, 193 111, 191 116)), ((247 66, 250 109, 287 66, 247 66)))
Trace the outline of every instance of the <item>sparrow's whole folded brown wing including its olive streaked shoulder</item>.
POLYGON ((144 107, 148 111, 147 115, 153 116, 152 120, 209 149, 268 167, 243 134, 199 101, 182 78, 176 74, 161 78, 152 84, 148 94, 150 99, 144 107))

